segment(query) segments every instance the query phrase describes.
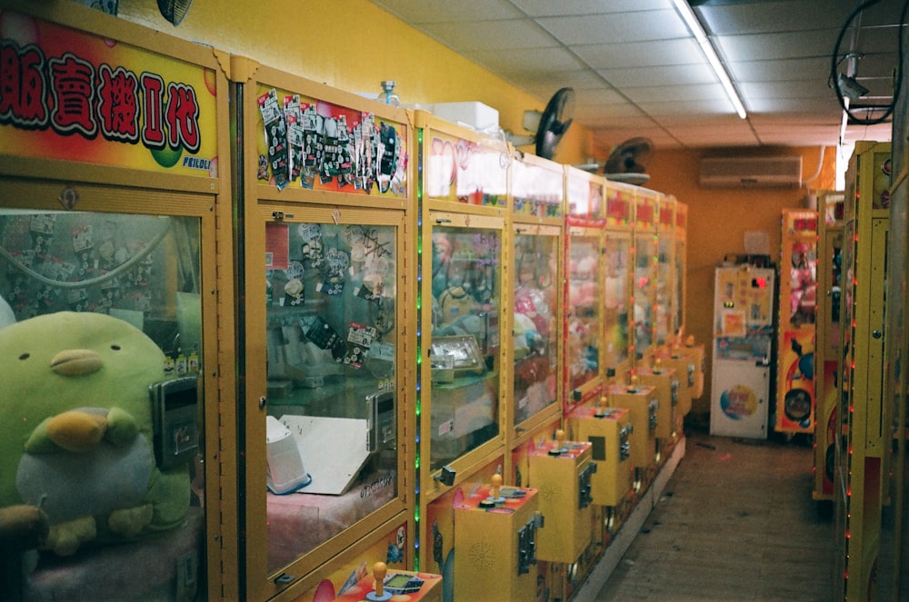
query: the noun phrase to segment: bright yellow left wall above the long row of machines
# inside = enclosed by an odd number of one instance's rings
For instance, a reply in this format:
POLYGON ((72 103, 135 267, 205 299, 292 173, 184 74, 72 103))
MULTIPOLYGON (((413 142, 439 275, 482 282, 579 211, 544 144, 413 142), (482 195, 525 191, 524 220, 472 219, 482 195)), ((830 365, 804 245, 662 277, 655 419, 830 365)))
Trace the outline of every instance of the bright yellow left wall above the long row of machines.
MULTIPOLYGON (((542 111, 549 100, 508 84, 366 0, 195 0, 178 27, 165 21, 156 0, 130 0, 120 3, 119 18, 348 92, 378 94, 383 80, 393 80, 402 104, 478 101, 499 112, 504 130, 519 135, 528 134, 524 111, 542 111)), ((560 86, 553 85, 554 94, 560 86)), ((583 163, 593 154, 591 141, 573 125, 554 161, 583 163)))

